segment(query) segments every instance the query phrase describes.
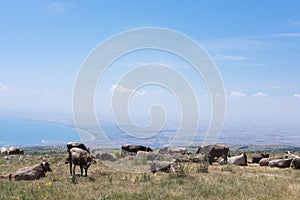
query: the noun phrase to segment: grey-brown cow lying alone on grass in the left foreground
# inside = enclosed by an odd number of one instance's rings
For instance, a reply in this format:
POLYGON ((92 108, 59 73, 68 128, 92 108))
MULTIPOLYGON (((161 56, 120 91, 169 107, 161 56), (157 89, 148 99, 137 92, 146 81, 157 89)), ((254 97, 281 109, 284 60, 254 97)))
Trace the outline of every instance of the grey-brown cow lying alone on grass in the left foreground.
POLYGON ((37 180, 46 176, 46 172, 51 172, 50 164, 48 162, 42 162, 30 167, 24 167, 19 169, 15 174, 9 175, 9 180, 12 177, 16 180, 37 180))

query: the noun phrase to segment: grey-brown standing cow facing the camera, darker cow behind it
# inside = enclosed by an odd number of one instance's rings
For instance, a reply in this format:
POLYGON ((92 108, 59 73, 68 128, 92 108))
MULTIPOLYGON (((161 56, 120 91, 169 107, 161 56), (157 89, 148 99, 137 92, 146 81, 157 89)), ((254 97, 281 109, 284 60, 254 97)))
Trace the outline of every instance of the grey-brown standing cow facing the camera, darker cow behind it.
MULTIPOLYGON (((92 162, 96 162, 94 157, 86 150, 82 150, 77 147, 73 147, 69 151, 69 163, 70 163, 70 174, 75 176, 76 165, 80 166, 80 175, 83 175, 83 169, 85 170, 85 176, 87 176, 87 170, 91 166, 92 162), (74 165, 72 171, 72 164, 74 165), (73 173, 72 173, 73 172, 73 173)), ((68 163, 68 160, 65 162, 68 163)))

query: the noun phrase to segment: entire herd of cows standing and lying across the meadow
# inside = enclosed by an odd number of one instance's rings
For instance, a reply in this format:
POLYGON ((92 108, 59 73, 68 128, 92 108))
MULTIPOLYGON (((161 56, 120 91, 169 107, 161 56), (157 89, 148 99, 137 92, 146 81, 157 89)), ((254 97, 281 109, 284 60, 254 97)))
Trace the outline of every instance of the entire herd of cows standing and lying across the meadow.
MULTIPOLYGON (((219 164, 233 164, 239 166, 247 166, 248 160, 245 152, 240 153, 238 156, 230 156, 229 147, 226 145, 214 144, 200 146, 196 155, 191 155, 188 149, 181 147, 163 147, 157 151, 153 151, 150 147, 142 145, 126 144, 122 145, 122 157, 128 155, 142 156, 148 161, 151 161, 150 171, 164 171, 164 172, 175 172, 175 165, 178 162, 213 162, 218 161, 219 157, 222 159, 219 164), (168 155, 171 161, 161 160, 160 155, 168 155)), ((69 164, 70 175, 75 176, 75 167, 80 167, 80 175, 83 176, 83 170, 85 170, 85 176, 87 176, 88 168, 92 163, 96 163, 95 157, 91 154, 90 149, 83 143, 69 142, 67 143, 68 158, 65 164, 69 164)), ((24 154, 24 151, 20 148, 1 148, 2 155, 14 155, 24 154)), ((104 154, 102 154, 104 155, 104 154)), ((113 154, 105 154, 106 156, 98 157, 101 161, 110 160, 116 161, 117 158, 113 154), (114 159, 112 159, 114 158, 114 159)), ((97 157, 97 156, 96 156, 97 157)), ((286 152, 285 156, 281 157, 270 157, 270 154, 260 153, 252 156, 251 163, 258 163, 260 166, 278 167, 278 168, 293 168, 300 169, 300 156, 286 152)), ((30 167, 23 167, 14 174, 9 174, 9 180, 36 180, 45 177, 46 172, 52 171, 48 162, 42 162, 30 167)), ((3 176, 2 176, 3 178, 3 176)))

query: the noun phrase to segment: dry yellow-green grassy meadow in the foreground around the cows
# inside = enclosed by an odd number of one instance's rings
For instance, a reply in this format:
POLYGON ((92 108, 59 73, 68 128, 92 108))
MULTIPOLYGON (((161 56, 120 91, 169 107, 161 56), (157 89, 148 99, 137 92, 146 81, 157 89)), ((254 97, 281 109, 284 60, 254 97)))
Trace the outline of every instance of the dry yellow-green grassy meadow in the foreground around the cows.
MULTIPOLYGON (((52 172, 35 181, 0 179, 0 199, 299 199, 300 170, 182 163, 176 173, 125 173, 98 161, 88 177, 69 175, 67 153, 35 152, 12 159, 0 157, 0 174, 43 160, 52 172), (208 171, 207 171, 208 170, 208 171)), ((248 159, 250 159, 249 156, 248 159)), ((133 165, 143 162, 128 160, 133 165)), ((76 173, 79 173, 76 167, 76 173)))

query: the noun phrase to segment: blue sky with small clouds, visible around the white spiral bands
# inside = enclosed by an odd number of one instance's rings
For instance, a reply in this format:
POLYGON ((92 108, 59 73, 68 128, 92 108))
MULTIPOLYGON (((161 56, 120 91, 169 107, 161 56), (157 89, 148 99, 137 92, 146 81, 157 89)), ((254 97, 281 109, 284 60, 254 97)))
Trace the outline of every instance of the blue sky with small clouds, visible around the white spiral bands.
MULTIPOLYGON (((122 31, 162 27, 193 38, 214 60, 224 81, 228 123, 300 122, 299 1, 28 0, 0 5, 1 112, 72 113, 76 75, 96 45, 122 31)), ((199 81, 177 58, 137 53, 121 59, 111 69, 114 75, 103 80, 105 93, 96 95, 98 114, 109 113, 110 88, 122 74, 120 66, 131 61, 164 62, 192 85, 199 81)), ((206 116, 209 99, 201 80, 199 84, 200 89, 194 87, 206 116)), ((135 97, 139 112, 133 118, 143 118, 153 102, 168 103, 169 116, 174 114, 176 100, 167 91, 141 91, 149 96, 147 101, 135 97)))

